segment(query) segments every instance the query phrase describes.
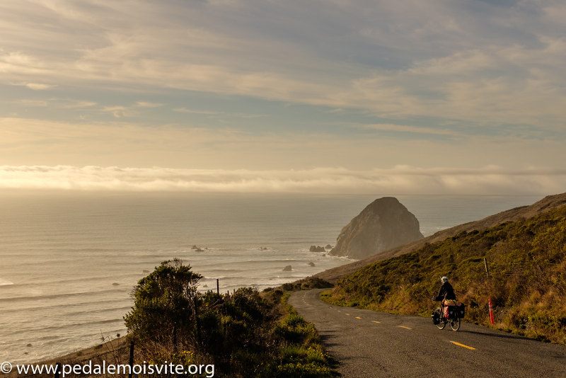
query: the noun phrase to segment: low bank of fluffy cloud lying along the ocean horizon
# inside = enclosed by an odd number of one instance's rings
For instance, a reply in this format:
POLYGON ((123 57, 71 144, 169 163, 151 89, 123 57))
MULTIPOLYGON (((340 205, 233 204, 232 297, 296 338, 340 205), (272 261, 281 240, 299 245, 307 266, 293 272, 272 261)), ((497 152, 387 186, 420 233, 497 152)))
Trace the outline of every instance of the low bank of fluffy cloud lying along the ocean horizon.
POLYGON ((0 189, 216 193, 396 193, 548 195, 566 188, 566 170, 346 168, 249 171, 99 166, 0 166, 0 189))

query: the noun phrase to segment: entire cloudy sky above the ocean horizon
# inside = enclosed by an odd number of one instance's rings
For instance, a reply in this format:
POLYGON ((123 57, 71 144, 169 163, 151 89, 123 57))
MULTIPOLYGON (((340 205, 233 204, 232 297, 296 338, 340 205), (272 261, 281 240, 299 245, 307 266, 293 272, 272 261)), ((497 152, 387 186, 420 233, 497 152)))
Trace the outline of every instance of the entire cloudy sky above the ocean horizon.
POLYGON ((0 189, 565 192, 559 0, 0 3, 0 189))

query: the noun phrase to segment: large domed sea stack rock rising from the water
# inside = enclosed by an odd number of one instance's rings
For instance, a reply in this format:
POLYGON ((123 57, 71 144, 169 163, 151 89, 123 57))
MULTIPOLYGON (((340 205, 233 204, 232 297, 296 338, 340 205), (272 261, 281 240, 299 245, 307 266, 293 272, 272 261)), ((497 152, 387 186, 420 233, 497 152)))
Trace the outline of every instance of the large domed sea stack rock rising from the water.
POLYGON ((422 238, 417 217, 397 198, 383 197, 340 231, 330 254, 361 259, 422 238))

